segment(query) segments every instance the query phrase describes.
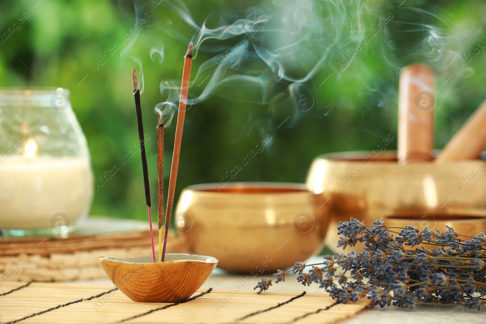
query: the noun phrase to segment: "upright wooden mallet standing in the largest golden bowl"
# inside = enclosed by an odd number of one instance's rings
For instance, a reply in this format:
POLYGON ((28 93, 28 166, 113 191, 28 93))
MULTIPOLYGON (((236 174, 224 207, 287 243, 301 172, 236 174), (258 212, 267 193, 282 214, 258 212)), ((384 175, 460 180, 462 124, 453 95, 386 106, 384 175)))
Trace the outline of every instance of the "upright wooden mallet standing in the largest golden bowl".
POLYGON ((432 160, 434 149, 434 72, 415 64, 399 80, 398 159, 400 164, 432 160))

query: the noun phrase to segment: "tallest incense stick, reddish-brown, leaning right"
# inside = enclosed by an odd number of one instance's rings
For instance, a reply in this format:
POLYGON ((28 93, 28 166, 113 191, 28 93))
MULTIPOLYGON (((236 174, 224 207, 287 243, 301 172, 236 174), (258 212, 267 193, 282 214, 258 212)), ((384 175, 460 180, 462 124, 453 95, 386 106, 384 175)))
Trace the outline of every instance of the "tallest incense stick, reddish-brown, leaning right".
POLYGON ((179 112, 177 113, 177 126, 175 127, 174 153, 172 154, 171 176, 169 178, 169 196, 167 197, 167 209, 165 211, 165 239, 162 250, 162 261, 165 259, 165 247, 167 245, 167 234, 171 223, 172 205, 174 204, 175 182, 177 180, 177 169, 179 167, 179 153, 181 150, 182 129, 184 128, 184 117, 186 116, 187 95, 189 92, 189 79, 191 78, 192 64, 192 42, 187 47, 184 58, 184 70, 182 72, 181 94, 179 98, 179 112))

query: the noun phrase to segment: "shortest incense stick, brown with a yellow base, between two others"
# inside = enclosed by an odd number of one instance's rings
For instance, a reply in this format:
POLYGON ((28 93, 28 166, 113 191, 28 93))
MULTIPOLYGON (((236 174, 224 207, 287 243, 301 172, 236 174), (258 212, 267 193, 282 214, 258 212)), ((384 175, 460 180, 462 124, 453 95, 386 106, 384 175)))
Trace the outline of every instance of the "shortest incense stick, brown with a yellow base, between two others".
MULTIPOLYGON (((157 217, 158 217, 158 260, 162 261, 162 226, 164 225, 164 116, 158 115, 157 125, 157 217)), ((167 234, 164 236, 167 239, 167 234)))

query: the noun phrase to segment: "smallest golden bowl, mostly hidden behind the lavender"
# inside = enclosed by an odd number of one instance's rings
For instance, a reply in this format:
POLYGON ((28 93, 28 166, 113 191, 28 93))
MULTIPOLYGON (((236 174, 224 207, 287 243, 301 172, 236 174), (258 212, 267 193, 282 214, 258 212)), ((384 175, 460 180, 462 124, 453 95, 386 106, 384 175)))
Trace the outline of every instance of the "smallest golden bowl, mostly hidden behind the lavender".
MULTIPOLYGON (((405 227, 406 225, 417 226, 423 231, 424 227, 429 227, 434 231, 446 231, 446 225, 453 227, 454 230, 466 236, 477 236, 479 233, 486 233, 486 214, 483 215, 453 215, 441 214, 436 212, 419 212, 411 214, 390 215, 386 217, 386 226, 405 227)), ((400 229, 393 229, 400 232, 400 229)), ((396 236, 396 235, 395 235, 396 236)), ((463 240, 470 238, 461 237, 463 240)))

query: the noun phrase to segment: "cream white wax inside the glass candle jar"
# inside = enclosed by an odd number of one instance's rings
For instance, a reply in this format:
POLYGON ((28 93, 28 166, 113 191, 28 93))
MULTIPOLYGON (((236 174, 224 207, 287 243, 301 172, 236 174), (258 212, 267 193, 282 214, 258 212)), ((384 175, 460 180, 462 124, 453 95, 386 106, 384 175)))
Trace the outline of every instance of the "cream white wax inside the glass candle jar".
POLYGON ((88 212, 92 196, 87 158, 14 154, 0 165, 0 228, 49 228, 59 212, 74 222, 88 212))

